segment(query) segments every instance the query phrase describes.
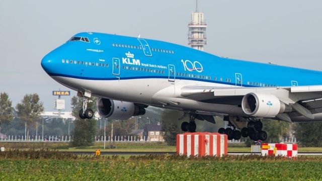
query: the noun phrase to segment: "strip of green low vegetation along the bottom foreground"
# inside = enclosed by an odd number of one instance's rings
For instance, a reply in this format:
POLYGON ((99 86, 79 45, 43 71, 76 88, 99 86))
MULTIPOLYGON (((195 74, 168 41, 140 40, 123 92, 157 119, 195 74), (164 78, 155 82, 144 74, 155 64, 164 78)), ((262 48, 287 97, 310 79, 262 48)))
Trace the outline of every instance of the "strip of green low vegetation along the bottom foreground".
POLYGON ((0 152, 0 180, 319 180, 322 157, 75 156, 0 152))

